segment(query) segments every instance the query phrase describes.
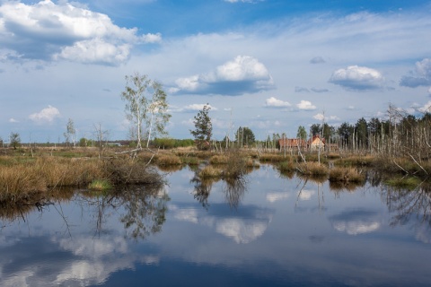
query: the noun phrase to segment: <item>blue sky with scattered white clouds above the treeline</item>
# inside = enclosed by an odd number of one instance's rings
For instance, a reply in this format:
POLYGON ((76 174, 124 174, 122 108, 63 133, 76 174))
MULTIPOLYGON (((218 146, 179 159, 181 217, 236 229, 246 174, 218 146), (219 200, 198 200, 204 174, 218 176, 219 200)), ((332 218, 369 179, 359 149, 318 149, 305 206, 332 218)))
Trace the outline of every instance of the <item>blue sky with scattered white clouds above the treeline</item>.
POLYGON ((431 107, 431 1, 0 0, 0 137, 128 139, 125 77, 163 84, 172 138, 295 137, 431 107))

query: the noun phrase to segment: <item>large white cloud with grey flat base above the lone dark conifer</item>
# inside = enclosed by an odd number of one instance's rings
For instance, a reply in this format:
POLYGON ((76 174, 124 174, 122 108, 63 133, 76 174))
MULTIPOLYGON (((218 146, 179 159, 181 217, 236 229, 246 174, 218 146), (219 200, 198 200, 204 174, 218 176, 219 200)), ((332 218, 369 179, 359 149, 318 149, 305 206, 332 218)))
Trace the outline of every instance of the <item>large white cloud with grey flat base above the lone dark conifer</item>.
POLYGON ((238 56, 207 74, 195 74, 175 81, 171 91, 179 93, 240 95, 274 88, 268 69, 256 58, 238 56))

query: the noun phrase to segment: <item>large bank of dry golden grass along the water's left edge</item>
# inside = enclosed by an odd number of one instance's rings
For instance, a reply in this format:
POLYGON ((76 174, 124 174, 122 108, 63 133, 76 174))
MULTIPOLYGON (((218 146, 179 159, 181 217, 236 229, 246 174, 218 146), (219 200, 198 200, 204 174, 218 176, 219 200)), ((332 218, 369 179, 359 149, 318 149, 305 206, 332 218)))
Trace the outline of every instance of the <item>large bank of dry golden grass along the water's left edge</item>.
POLYGON ((39 157, 0 168, 0 202, 25 203, 58 187, 88 187, 97 180, 111 185, 151 184, 163 182, 163 177, 142 161, 39 157))

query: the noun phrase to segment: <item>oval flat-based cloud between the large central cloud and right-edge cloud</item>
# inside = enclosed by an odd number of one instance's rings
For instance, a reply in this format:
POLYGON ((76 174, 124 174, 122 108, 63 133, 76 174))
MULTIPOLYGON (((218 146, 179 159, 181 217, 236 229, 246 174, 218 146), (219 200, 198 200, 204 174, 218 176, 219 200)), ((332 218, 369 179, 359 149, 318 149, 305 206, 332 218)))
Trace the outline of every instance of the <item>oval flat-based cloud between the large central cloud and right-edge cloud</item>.
POLYGON ((382 88, 384 77, 372 68, 350 65, 346 69, 335 71, 330 76, 329 82, 350 91, 366 91, 382 88))

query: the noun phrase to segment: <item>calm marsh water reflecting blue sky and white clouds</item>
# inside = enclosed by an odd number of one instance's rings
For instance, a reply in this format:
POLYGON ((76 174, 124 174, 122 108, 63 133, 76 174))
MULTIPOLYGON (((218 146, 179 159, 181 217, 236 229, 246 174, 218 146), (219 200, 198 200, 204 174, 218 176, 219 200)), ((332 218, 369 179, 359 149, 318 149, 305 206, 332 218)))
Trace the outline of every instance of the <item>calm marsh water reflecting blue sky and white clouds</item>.
POLYGON ((429 286, 431 194, 282 175, 59 191, 3 210, 1 286, 429 286), (61 196, 60 196, 61 195, 61 196))

